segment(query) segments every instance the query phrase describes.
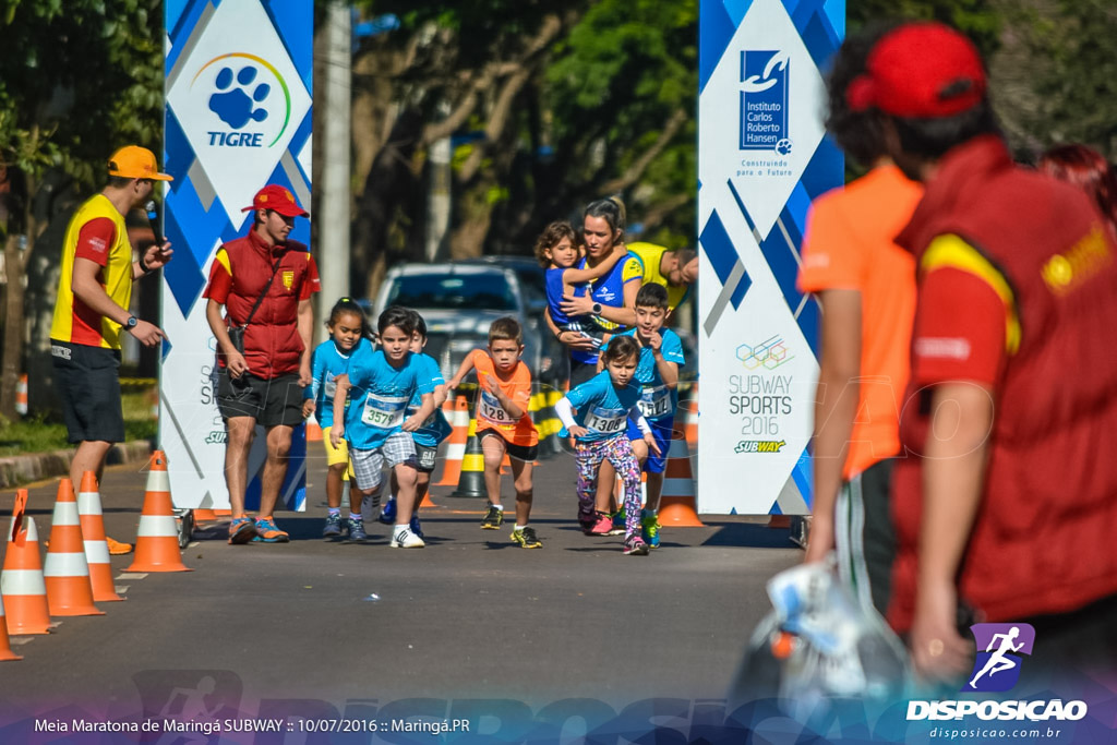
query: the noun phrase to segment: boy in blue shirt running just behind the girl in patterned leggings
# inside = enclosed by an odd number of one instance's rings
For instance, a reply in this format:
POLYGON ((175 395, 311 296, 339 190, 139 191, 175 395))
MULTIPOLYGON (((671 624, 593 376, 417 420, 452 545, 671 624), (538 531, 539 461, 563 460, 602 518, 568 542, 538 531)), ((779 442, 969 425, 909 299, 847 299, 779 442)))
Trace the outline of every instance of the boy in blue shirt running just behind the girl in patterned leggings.
POLYGON ((649 452, 643 434, 631 422, 628 437, 633 455, 648 474, 648 500, 640 514, 640 525, 645 542, 652 548, 659 547, 659 497, 663 491, 663 469, 671 448, 675 410, 679 404, 679 366, 686 364, 678 334, 663 328, 670 315, 667 289, 662 285, 647 284, 636 296, 636 327, 610 340, 613 343, 629 336, 640 345, 636 380, 643 388, 639 405, 659 452, 649 452))

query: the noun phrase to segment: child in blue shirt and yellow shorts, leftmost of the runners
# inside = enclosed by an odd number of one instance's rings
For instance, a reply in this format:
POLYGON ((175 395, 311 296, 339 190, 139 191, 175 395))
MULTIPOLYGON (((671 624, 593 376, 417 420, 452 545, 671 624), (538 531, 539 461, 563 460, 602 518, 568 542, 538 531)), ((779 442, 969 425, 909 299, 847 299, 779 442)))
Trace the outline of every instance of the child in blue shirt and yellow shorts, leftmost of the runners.
POLYGON ((371 351, 369 338, 372 328, 360 305, 347 297, 334 304, 326 321, 330 338, 314 348, 311 357, 311 384, 303 389, 306 399, 303 401, 303 416, 314 411, 318 427, 322 428, 322 440, 326 448, 326 525, 322 529, 324 537, 342 534, 342 489, 349 480, 349 449, 342 441, 334 447, 330 441, 330 431, 334 423, 334 391, 337 378, 349 372, 350 357, 359 348, 371 351))

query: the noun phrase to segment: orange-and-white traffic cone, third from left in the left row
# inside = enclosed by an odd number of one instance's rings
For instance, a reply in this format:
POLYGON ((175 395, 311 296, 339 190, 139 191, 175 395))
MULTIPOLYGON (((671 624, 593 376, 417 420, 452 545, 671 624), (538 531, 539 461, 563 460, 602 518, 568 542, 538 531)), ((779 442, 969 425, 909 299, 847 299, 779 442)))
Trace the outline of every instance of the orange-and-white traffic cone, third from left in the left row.
POLYGON ((47 605, 51 615, 104 615, 93 604, 89 564, 85 560, 82 520, 77 514, 74 484, 58 483, 58 498, 50 520, 50 546, 42 564, 47 584, 47 605))

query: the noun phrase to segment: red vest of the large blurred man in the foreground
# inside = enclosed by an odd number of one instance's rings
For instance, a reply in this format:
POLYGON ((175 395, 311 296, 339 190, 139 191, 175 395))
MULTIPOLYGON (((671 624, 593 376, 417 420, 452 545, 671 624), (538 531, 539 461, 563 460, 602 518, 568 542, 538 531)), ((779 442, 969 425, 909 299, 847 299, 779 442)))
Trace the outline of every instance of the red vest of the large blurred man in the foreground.
MULTIPOLYGON (((1062 613, 1117 592, 1117 248, 1076 188, 1016 168, 999 137, 949 151, 897 238, 917 260, 956 235, 1008 279, 1019 350, 994 385, 982 502, 958 596, 987 621, 1062 613)), ((923 452, 927 412, 905 407, 900 437, 923 452)), ((897 562, 889 621, 910 627, 920 459, 897 465, 897 562)))

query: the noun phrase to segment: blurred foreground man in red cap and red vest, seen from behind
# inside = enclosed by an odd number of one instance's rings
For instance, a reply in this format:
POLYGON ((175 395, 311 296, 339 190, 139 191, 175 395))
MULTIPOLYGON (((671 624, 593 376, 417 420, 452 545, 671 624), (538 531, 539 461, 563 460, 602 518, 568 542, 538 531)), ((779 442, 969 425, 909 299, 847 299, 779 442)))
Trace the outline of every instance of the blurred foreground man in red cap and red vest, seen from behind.
POLYGON ((918 295, 889 621, 930 677, 968 672, 974 621, 1034 627, 1025 675, 1113 670, 1117 461, 1091 456, 1117 451, 1117 247, 1078 189, 1013 164, 954 29, 886 34, 846 96, 925 184, 897 237, 918 295))

